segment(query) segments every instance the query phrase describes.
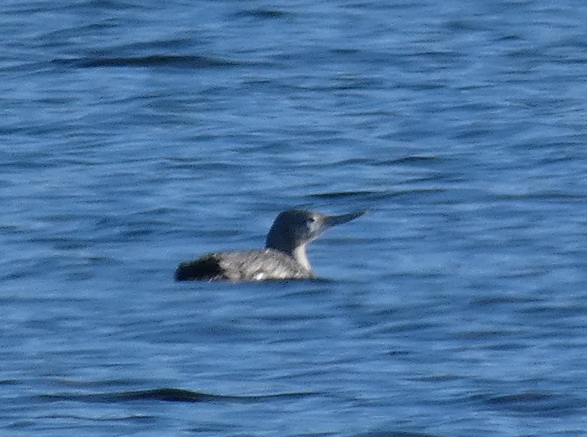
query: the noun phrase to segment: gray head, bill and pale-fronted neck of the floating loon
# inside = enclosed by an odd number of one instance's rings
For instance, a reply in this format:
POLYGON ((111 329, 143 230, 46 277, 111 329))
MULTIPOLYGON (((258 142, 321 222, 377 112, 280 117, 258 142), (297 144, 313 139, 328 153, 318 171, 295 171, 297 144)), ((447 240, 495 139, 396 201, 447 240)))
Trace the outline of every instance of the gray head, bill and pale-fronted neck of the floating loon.
POLYGON ((284 211, 277 216, 269 229, 265 247, 288 254, 310 271, 310 263, 306 257, 306 244, 315 240, 326 229, 356 219, 366 212, 326 216, 315 211, 284 211))

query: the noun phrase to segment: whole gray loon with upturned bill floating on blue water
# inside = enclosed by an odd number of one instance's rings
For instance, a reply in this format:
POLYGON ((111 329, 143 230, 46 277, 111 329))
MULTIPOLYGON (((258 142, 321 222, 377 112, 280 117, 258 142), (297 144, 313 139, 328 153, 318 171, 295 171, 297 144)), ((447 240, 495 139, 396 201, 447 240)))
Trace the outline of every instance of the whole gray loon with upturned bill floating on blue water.
POLYGON ((283 211, 269 229, 264 250, 210 253, 181 263, 176 270, 176 281, 313 278, 306 244, 326 229, 356 219, 366 212, 326 216, 301 209, 283 211))

